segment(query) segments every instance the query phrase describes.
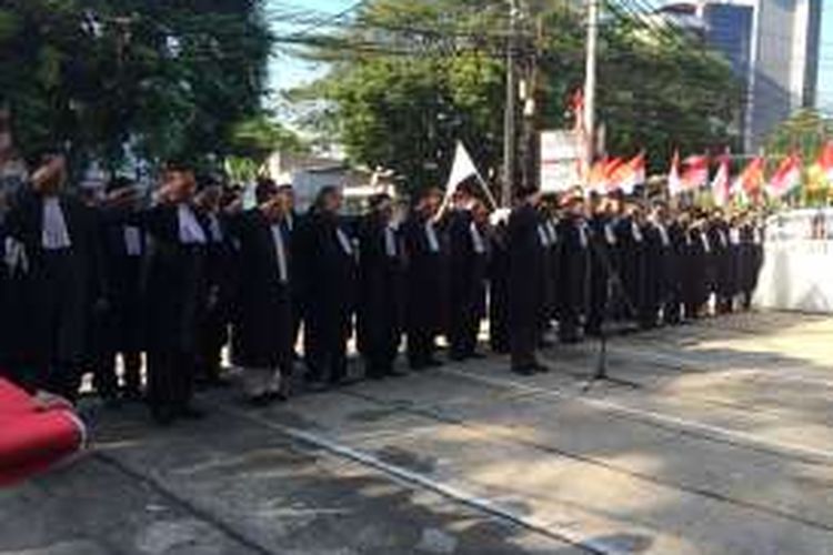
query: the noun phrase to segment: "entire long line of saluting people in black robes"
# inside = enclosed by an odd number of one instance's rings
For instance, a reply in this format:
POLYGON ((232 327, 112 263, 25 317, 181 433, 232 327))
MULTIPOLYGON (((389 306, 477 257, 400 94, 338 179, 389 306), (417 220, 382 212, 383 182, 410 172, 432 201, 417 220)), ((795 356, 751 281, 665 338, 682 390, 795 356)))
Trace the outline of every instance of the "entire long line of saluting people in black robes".
POLYGON ((262 179, 244 206, 180 164, 150 198, 123 178, 103 194, 67 181, 51 152, 0 192, 0 372, 69 400, 92 374, 160 424, 201 415, 192 392, 224 382, 224 352, 257 404, 290 397, 302 370, 307 387, 343 384, 351 344, 368 379, 400 375, 403 344, 413 372, 442 365, 441 336, 444 357, 489 349, 528 375, 548 370, 550 332, 574 343, 749 309, 763 259, 753 214, 619 193, 521 190, 491 211, 464 184, 344 218, 337 188, 299 214, 291 186, 262 179))

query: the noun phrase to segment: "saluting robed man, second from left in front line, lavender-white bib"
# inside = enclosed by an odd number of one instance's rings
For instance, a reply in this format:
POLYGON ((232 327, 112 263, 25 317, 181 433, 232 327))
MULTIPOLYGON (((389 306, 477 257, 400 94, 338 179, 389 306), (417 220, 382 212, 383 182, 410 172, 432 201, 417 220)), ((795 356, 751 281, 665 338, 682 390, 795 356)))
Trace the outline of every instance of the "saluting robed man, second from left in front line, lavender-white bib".
POLYGON ((200 417, 191 406, 199 330, 208 297, 208 235, 192 206, 197 184, 171 164, 157 204, 142 214, 152 240, 148 261, 147 400, 157 423, 200 417))

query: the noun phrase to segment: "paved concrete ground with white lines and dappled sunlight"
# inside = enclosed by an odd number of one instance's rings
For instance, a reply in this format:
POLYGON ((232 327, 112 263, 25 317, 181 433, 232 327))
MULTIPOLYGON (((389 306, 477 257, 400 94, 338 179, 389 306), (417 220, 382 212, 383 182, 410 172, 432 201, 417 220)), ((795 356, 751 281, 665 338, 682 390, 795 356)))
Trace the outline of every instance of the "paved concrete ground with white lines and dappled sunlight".
POLYGON ((0 554, 833 553, 833 319, 735 315, 171 430, 0 492, 0 554))

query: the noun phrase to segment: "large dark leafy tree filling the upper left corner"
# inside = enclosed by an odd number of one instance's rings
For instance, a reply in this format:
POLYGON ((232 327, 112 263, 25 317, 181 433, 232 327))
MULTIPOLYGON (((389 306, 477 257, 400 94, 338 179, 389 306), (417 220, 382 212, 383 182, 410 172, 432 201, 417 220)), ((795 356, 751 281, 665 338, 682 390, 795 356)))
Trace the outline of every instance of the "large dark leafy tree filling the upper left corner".
POLYGON ((270 48, 259 0, 6 0, 0 94, 24 150, 222 159, 270 48))

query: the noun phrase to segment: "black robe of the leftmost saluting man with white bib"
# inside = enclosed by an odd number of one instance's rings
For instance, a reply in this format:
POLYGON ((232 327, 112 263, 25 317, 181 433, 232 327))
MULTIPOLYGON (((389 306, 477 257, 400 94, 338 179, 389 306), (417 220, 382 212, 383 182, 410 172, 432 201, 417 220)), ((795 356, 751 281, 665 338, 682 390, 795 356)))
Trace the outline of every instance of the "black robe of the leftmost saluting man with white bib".
POLYGON ((42 246, 42 198, 20 191, 7 218, 7 232, 22 242, 29 271, 18 283, 21 294, 12 316, 20 326, 14 351, 36 370, 37 386, 70 398, 78 393, 80 366, 88 347, 90 306, 101 293, 99 249, 90 209, 70 195, 59 203, 71 242, 69 249, 42 246))

